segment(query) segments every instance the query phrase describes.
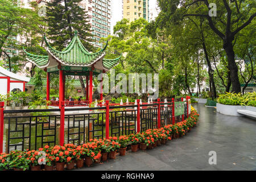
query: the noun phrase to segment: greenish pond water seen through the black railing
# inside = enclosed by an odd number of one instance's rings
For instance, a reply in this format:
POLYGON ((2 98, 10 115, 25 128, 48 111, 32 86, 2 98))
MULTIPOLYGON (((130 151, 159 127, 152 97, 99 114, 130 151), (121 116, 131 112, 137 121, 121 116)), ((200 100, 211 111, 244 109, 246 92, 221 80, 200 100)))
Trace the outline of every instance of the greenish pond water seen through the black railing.
MULTIPOLYGON (((23 118, 10 118, 5 119, 5 129, 3 136, 3 151, 7 152, 8 150, 8 138, 10 138, 10 147, 9 151, 22 150, 22 146, 24 150, 30 148, 34 150, 35 148, 40 148, 48 144, 49 146, 53 146, 54 143, 59 144, 60 141, 60 125, 59 118, 51 118, 49 119, 50 126, 47 123, 38 123, 35 125, 35 121, 30 121, 31 117, 23 117, 23 118), (30 125, 31 122, 31 125, 30 125), (56 123, 56 127, 55 127, 56 123), (8 132, 10 127, 10 131, 8 132), (43 127, 43 129, 42 129, 43 127), (56 129, 55 129, 56 128, 56 129), (43 136, 43 137, 42 137, 43 136), (43 143, 43 144, 42 144, 43 143), (15 145, 15 146, 11 146, 15 145)), ((47 121, 49 121, 47 120, 47 121)), ((97 123, 91 124, 90 126, 90 134, 88 133, 88 120, 83 117, 76 117, 75 123, 73 123, 72 118, 69 118, 69 130, 68 130, 68 118, 65 118, 65 127, 64 127, 64 143, 74 143, 74 144, 82 144, 88 141, 89 138, 102 138, 105 137, 105 126, 97 125, 97 123), (75 125, 74 125, 75 124, 75 125), (92 131, 93 130, 93 131, 92 131), (68 140, 69 135, 69 140, 68 140), (79 143, 80 140, 80 143, 79 143)), ((134 123, 133 123, 134 124, 134 123)), ((143 124, 143 127, 145 125, 143 124)), ((126 131, 131 133, 134 131, 134 126, 130 126, 130 128, 126 128, 126 131), (130 132, 127 131, 130 129, 130 132)), ((125 130, 125 129, 123 129, 125 130)), ((120 123, 114 123, 111 127, 109 126, 110 136, 122 134, 122 127, 120 123)), ((125 132, 125 131, 124 131, 125 132)))

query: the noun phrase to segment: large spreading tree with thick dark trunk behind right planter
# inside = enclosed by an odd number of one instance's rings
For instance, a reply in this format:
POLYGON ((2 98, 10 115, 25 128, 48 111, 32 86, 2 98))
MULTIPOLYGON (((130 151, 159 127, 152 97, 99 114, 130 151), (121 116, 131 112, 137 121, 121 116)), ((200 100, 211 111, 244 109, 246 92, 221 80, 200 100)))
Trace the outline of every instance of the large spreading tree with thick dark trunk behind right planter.
POLYGON ((255 1, 213 1, 217 5, 217 16, 209 16, 208 0, 172 1, 158 0, 160 9, 159 21, 170 27, 170 23, 183 21, 198 16, 208 21, 208 27, 222 40, 222 46, 228 58, 228 69, 232 82, 232 92, 241 92, 238 78, 238 67, 233 49, 240 31, 254 21, 255 1))

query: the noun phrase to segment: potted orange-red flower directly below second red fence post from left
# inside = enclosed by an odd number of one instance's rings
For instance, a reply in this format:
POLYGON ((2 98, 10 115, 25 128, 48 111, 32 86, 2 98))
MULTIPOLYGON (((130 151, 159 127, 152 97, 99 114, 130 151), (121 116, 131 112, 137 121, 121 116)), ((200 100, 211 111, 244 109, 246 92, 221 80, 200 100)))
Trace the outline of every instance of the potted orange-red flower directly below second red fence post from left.
POLYGON ((57 171, 63 171, 64 170, 64 165, 66 162, 65 159, 65 152, 66 147, 64 146, 54 146, 52 148, 52 153, 54 155, 53 161, 56 163, 56 170, 57 171))

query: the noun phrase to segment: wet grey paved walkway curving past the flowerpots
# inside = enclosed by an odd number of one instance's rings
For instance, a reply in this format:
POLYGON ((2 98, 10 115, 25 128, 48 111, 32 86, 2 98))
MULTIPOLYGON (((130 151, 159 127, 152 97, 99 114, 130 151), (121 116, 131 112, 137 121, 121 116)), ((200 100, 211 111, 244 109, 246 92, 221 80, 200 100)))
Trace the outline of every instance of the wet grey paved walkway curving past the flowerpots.
POLYGON ((77 170, 256 170, 256 122, 197 104, 199 123, 183 138, 77 170), (210 165, 209 151, 217 152, 210 165))

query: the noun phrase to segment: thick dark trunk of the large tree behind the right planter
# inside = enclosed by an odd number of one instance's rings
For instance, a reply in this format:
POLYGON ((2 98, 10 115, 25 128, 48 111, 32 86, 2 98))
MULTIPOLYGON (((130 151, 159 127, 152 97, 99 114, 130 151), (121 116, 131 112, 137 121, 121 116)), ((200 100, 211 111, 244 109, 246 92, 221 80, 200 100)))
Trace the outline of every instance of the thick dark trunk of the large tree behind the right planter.
POLYGON ((230 71, 232 92, 240 93, 241 86, 240 86, 240 82, 239 82, 239 78, 238 78, 237 64, 234 59, 234 50, 233 50, 233 46, 232 46, 232 40, 233 39, 226 39, 225 43, 223 45, 223 48, 225 49, 226 55, 228 56, 228 68, 230 71))

